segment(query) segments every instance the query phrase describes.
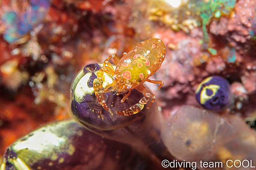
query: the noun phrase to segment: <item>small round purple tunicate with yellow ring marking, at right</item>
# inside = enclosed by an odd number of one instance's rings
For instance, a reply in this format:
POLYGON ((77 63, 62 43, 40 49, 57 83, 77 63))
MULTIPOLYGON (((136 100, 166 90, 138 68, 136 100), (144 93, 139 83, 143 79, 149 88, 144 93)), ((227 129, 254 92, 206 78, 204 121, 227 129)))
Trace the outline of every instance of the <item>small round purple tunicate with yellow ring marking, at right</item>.
POLYGON ((206 109, 222 111, 233 104, 233 93, 225 78, 211 76, 198 85, 196 100, 206 109))

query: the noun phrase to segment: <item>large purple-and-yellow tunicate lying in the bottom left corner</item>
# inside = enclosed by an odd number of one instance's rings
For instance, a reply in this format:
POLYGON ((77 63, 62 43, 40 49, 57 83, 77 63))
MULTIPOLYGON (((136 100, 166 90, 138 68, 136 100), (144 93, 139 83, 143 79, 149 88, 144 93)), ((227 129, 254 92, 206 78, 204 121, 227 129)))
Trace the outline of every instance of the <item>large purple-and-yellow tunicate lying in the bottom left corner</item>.
POLYGON ((155 158, 104 139, 74 119, 40 127, 10 145, 0 170, 155 170, 155 158))

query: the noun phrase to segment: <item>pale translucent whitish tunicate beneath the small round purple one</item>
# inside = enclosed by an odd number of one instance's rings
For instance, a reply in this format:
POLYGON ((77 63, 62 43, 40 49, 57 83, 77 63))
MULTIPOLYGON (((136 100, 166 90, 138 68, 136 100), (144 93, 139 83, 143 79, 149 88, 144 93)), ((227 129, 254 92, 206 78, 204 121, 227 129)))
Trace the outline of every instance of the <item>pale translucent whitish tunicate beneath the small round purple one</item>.
MULTIPOLYGON (((200 169, 256 169, 256 132, 238 116, 219 116, 208 110, 182 106, 162 125, 162 140, 178 160, 222 162, 222 168, 200 169), (234 167, 227 160, 252 160, 248 168, 234 167)), ((237 161, 236 163, 239 162, 237 161)), ((244 166, 247 166, 247 161, 244 166)), ((238 166, 236 165, 236 166, 238 166)))

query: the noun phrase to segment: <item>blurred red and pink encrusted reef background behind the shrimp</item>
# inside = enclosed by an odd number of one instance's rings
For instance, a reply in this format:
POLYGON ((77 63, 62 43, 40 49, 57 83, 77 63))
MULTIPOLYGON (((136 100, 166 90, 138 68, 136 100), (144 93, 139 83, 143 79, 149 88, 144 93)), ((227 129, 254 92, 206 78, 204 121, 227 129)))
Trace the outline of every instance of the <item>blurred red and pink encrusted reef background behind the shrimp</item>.
POLYGON ((255 0, 1 0, 0 160, 19 137, 70 117, 70 85, 84 65, 149 38, 166 45, 150 78, 164 86, 148 84, 164 117, 201 107, 198 84, 218 75, 234 93, 225 114, 255 127, 255 0))

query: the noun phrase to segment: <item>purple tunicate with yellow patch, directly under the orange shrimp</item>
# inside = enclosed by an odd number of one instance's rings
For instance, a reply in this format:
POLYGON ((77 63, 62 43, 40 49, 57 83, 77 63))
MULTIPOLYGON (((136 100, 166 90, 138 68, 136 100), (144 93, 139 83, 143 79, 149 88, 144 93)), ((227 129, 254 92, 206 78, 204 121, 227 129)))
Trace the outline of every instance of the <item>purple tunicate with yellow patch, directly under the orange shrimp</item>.
MULTIPOLYGON (((130 96, 121 102, 125 94, 116 95, 115 92, 104 93, 106 104, 111 109, 107 111, 98 102, 93 88, 93 81, 102 64, 87 64, 78 72, 71 88, 70 112, 72 117, 90 131, 112 139, 140 148, 145 153, 155 154, 161 160, 172 158, 160 138, 160 125, 162 115, 154 103, 130 116, 118 115, 115 111, 127 109, 143 98, 143 94, 133 89, 130 96)), ((110 74, 104 72, 103 87, 112 83, 110 74)))

